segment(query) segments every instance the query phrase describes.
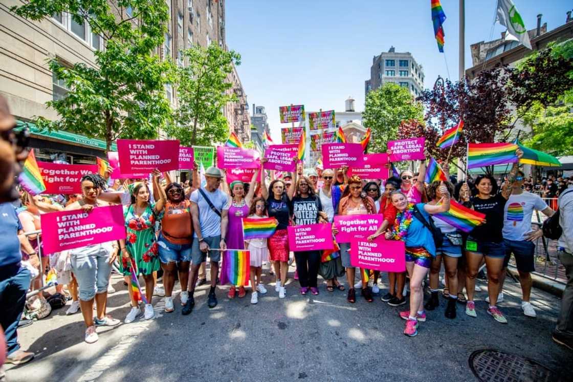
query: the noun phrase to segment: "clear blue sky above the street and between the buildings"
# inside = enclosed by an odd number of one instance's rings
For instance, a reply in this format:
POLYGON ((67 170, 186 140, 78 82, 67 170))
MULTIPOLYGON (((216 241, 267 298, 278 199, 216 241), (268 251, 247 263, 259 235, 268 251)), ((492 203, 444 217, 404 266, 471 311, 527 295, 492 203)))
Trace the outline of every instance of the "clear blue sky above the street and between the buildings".
MULTIPOLYGON (((348 96, 364 110, 364 80, 372 57, 391 45, 423 65, 425 87, 438 75, 458 78, 458 0, 442 0, 446 14, 445 54, 439 53, 430 0, 228 0, 226 38, 241 53, 237 68, 252 104, 265 106, 274 142, 280 142, 278 107, 304 104, 305 110, 344 111, 348 96)), ((568 0, 514 0, 525 26, 543 14, 548 30, 563 25, 568 0)), ((492 21, 497 0, 466 0, 465 68, 469 45, 499 38, 505 30, 492 21), (492 36, 492 38, 490 38, 492 36)))

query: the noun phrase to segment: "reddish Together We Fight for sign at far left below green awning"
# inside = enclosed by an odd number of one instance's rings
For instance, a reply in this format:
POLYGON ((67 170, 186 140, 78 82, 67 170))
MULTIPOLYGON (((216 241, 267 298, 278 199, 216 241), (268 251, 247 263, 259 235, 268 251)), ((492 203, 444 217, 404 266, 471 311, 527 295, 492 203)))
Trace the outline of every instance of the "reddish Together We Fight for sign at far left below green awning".
POLYGON ((42 194, 80 194, 81 177, 97 173, 97 165, 66 165, 38 161, 38 167, 46 185, 46 190, 42 194))

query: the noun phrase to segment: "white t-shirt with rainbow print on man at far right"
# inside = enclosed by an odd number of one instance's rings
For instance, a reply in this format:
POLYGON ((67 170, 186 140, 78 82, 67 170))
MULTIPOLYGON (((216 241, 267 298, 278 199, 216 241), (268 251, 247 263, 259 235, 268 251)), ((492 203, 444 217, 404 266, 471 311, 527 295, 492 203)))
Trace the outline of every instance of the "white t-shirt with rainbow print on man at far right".
POLYGON ((532 231, 533 209, 543 211, 545 208, 547 203, 539 195, 527 191, 519 195, 511 194, 504 208, 504 239, 525 240, 525 235, 532 231))

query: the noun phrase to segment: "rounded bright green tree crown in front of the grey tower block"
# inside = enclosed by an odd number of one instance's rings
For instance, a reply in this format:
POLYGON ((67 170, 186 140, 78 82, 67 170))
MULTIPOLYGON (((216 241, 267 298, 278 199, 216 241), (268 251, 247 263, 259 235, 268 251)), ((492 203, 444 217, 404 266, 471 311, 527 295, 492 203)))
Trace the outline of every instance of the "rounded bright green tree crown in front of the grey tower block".
POLYGON ((395 83, 368 92, 362 113, 364 126, 372 129, 369 150, 386 151, 386 143, 397 138, 398 126, 403 120, 422 120, 422 105, 414 102, 407 88, 395 83))

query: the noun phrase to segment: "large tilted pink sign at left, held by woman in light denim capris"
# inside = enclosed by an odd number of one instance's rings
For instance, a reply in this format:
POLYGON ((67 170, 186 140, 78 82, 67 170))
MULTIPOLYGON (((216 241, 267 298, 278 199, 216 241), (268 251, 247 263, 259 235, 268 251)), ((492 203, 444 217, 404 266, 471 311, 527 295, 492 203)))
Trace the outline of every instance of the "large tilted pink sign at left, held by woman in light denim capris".
POLYGON ((86 245, 125 239, 123 206, 50 212, 42 215, 42 243, 45 254, 53 254, 86 245))

